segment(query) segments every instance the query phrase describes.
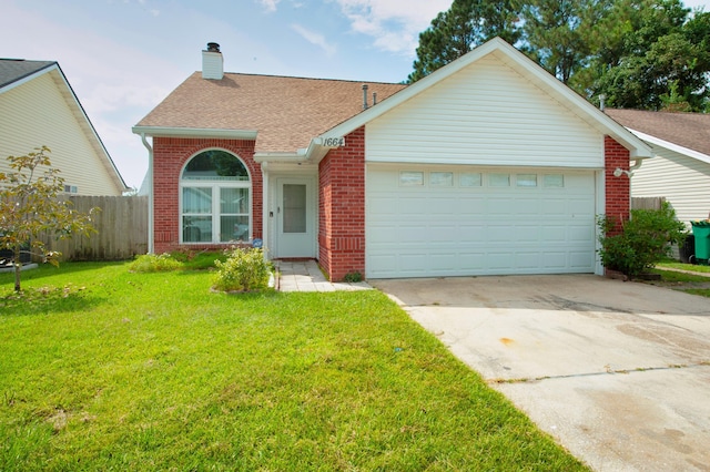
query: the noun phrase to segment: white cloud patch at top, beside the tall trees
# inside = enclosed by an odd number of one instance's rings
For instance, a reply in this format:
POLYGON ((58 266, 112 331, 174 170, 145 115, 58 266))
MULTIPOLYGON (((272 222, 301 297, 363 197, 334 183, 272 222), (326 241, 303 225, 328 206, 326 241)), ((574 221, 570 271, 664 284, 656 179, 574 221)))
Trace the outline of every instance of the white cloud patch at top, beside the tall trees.
POLYGON ((381 50, 414 57, 419 32, 452 0, 336 0, 351 29, 374 38, 381 50))

